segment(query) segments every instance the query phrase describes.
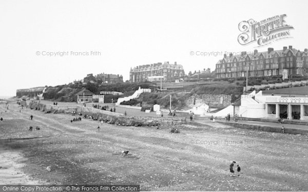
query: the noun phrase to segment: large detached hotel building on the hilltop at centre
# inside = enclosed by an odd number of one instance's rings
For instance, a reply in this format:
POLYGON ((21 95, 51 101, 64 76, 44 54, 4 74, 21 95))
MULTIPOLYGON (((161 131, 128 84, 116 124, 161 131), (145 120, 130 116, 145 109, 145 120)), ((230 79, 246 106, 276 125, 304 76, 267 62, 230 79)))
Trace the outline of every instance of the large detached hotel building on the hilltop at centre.
POLYGON ((145 80, 160 80, 175 81, 184 78, 185 73, 182 65, 177 62, 170 64, 168 61, 164 63, 154 63, 150 65, 137 66, 130 68, 129 80, 130 82, 142 82, 145 80), (155 78, 158 77, 158 78, 155 78))

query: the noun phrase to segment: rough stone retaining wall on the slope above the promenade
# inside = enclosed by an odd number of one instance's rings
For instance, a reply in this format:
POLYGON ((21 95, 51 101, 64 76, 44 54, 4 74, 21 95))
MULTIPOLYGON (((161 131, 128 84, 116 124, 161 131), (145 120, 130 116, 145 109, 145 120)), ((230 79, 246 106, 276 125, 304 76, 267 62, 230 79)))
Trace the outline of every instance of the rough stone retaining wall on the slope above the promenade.
POLYGON ((205 103, 210 108, 225 108, 232 101, 232 95, 193 95, 186 101, 186 105, 192 108, 195 104, 205 103))

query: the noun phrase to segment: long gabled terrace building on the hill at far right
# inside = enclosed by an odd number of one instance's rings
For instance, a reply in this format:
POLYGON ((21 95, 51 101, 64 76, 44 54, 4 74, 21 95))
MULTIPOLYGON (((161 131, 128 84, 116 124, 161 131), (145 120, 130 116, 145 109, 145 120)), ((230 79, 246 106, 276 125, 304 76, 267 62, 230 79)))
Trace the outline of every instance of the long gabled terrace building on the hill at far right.
POLYGON ((306 75, 308 73, 308 50, 303 52, 292 46, 275 51, 268 48, 267 52, 254 51, 252 54, 242 52, 241 55, 228 56, 216 63, 217 78, 274 76, 274 75, 306 75))

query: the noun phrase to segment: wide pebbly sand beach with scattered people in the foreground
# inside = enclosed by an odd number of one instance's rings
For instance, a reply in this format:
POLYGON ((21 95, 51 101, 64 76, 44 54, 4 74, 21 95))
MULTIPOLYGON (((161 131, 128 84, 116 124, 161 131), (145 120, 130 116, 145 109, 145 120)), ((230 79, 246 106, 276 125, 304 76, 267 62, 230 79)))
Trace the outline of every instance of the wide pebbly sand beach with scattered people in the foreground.
MULTIPOLYGON (((72 103, 73 104, 73 103, 72 103)), ((222 124, 132 127, 0 111, 1 183, 140 184, 141 190, 308 190, 308 138, 222 124), (33 115, 33 120, 29 116, 33 115), (29 131, 29 126, 40 130, 29 131), (97 127, 100 125, 100 129, 97 127), (131 156, 122 156, 121 151, 131 156), (229 164, 241 165, 230 177, 229 164), (50 170, 47 170, 50 167, 50 170)))

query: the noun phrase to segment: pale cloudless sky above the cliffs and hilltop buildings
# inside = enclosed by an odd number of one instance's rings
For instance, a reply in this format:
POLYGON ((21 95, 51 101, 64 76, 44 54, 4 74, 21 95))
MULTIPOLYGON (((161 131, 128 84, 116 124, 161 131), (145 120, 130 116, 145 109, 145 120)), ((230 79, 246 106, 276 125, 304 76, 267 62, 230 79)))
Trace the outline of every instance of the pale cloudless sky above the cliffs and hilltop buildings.
POLYGON ((308 48, 307 7, 304 0, 1 0, 0 96, 66 84, 90 73, 120 74, 125 81, 131 67, 165 61, 177 61, 186 74, 215 70, 223 57, 218 53, 256 49, 256 44, 239 44, 240 22, 281 14, 294 27, 293 38, 257 49, 292 45, 303 51, 308 48))

